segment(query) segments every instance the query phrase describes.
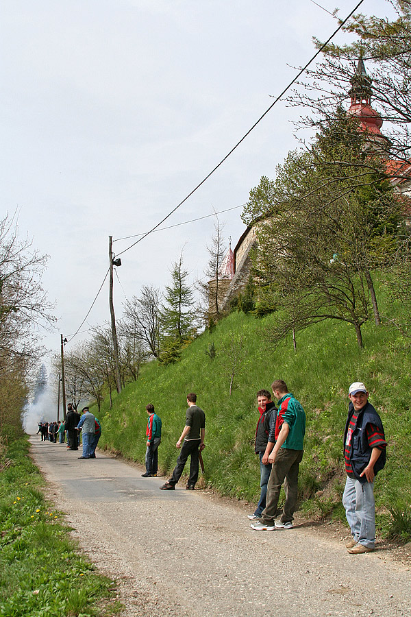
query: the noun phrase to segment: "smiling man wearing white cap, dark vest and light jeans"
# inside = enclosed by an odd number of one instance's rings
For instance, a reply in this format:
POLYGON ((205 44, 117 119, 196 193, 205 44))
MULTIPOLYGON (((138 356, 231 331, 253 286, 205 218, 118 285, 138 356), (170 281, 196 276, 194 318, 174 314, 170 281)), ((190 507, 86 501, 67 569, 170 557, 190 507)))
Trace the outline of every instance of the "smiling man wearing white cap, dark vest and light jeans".
POLYGON ((352 555, 374 550, 374 478, 386 461, 384 427, 368 398, 369 393, 363 383, 351 383, 344 435, 347 482, 343 505, 352 535, 347 548, 352 555))

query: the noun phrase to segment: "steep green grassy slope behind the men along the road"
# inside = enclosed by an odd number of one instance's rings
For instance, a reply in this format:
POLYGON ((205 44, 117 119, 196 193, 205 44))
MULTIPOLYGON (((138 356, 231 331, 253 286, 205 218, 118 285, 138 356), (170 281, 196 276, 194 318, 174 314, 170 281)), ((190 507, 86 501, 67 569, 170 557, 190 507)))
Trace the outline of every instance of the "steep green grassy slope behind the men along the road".
MULTIPOLYGON (((381 308, 386 313, 386 307, 381 308)), ((395 503, 407 514, 411 504, 411 359, 403 341, 396 330, 369 322, 363 328, 365 347, 360 350, 351 326, 323 322, 301 332, 297 352, 292 341, 273 349, 267 343, 267 332, 274 320, 274 314, 256 319, 232 313, 188 346, 178 363, 145 365, 138 381, 129 383, 114 399, 112 409, 108 402, 103 404, 99 445, 144 464, 145 405, 151 402, 163 423, 160 471, 169 474, 177 458, 175 442, 184 426, 186 394, 195 391, 199 406, 206 411, 203 485, 224 495, 256 500, 260 474, 253 453, 258 420, 255 395, 260 388, 270 389, 274 378, 282 378, 307 414, 299 478, 301 507, 310 516, 331 512, 342 516, 347 391, 351 382, 364 381, 388 440, 386 468, 376 481, 379 527, 388 529, 387 507, 395 503), (240 339, 242 361, 229 396, 232 345, 234 341, 238 350, 240 339), (214 360, 206 353, 212 344, 214 360)), ((395 531, 392 523, 391 532, 395 531)))

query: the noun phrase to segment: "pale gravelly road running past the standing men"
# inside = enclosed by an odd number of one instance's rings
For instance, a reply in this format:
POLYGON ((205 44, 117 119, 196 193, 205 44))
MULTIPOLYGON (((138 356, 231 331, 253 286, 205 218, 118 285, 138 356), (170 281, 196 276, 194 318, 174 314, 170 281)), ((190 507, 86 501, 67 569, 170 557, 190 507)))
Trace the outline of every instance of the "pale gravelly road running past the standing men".
POLYGON ((314 524, 253 531, 246 505, 184 483, 163 492, 164 478, 100 452, 78 460, 81 450, 31 441, 56 507, 116 580, 123 617, 411 615, 410 566, 382 548, 349 555, 314 524))

